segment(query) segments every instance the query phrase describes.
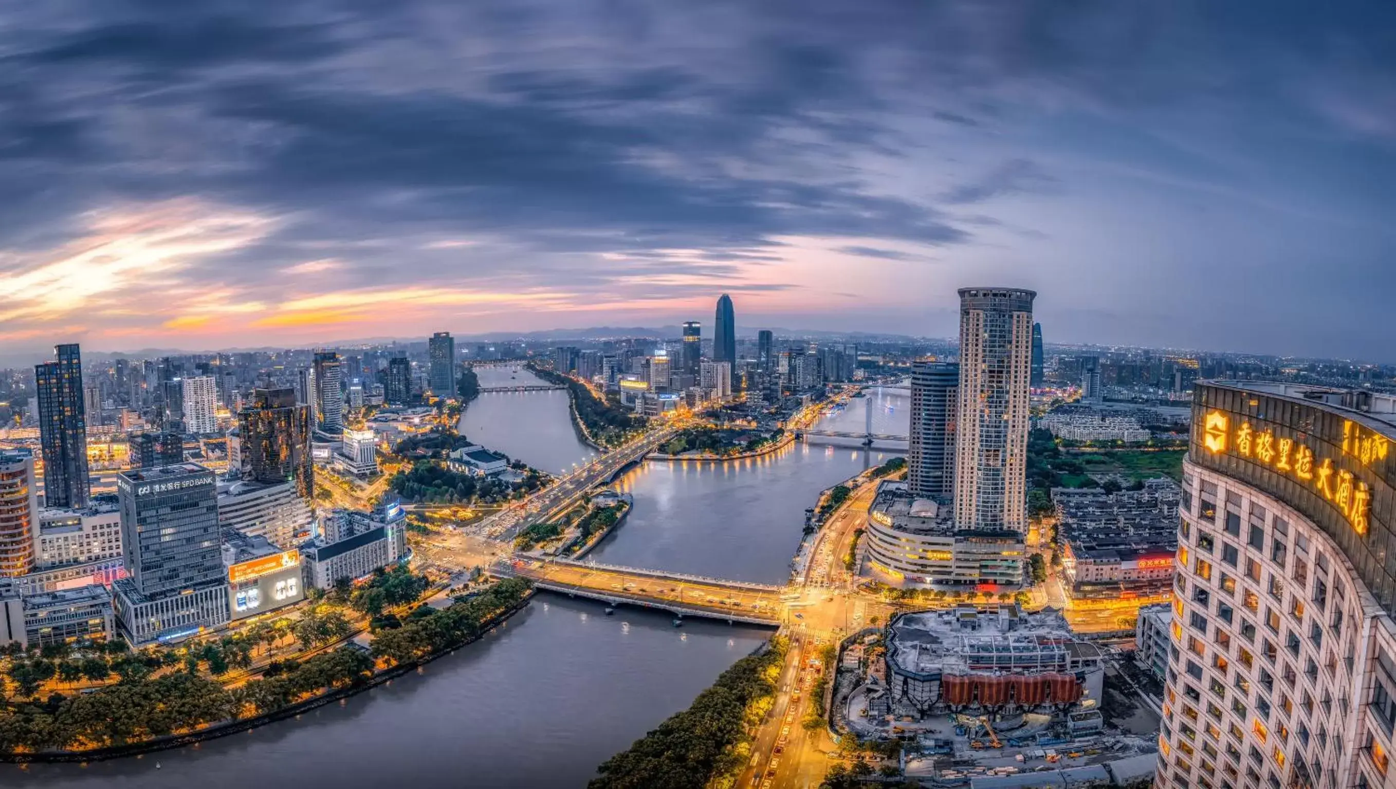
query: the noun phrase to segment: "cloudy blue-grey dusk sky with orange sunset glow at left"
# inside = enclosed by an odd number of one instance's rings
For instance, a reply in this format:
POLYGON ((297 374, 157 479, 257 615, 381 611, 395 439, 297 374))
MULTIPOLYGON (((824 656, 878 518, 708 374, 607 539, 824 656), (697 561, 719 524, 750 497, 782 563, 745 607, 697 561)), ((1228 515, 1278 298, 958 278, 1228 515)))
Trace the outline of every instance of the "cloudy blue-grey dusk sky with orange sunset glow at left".
POLYGON ((674 325, 1396 362, 1396 4, 46 0, 0 353, 674 325))

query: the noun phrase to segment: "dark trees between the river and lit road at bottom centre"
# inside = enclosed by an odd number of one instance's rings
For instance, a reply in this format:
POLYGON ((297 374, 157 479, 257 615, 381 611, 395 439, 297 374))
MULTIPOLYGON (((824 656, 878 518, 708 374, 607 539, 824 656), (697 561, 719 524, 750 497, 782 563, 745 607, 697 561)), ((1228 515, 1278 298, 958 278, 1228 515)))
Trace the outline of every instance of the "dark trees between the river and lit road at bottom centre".
POLYGON ((771 707, 785 662, 776 638, 764 655, 748 655, 635 743, 606 760, 588 789, 704 789, 745 764, 750 730, 771 707))

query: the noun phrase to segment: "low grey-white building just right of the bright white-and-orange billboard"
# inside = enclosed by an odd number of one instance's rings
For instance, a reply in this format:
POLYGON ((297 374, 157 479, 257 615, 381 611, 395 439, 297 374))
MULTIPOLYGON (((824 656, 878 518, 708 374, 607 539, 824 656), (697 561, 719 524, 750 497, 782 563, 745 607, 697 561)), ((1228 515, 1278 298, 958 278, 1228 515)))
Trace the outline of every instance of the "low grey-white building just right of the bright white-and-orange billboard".
POLYGON ((321 535, 300 553, 306 584, 329 589, 339 578, 363 578, 408 559, 406 529, 401 519, 384 518, 383 513, 334 510, 325 515, 321 535))

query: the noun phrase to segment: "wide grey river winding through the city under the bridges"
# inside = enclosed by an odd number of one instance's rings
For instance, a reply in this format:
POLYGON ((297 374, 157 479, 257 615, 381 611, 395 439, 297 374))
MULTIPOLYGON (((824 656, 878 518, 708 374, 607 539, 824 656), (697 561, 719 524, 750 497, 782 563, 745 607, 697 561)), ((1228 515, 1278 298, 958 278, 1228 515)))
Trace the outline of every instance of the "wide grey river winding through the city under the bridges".
MULTIPOLYGON (((482 385, 533 383, 526 371, 482 369, 482 385), (512 377, 511 377, 512 376, 512 377)), ((874 433, 906 432, 906 397, 867 398, 874 433)), ((859 432, 854 399, 824 427, 859 432)), ((592 454, 572 432, 565 392, 483 394, 461 432, 546 471, 592 454)), ((797 444, 737 464, 649 461, 617 486, 632 493, 627 522, 596 561, 782 582, 815 494, 892 454, 797 444)), ((147 755, 78 765, 0 767, 0 785, 59 788, 561 786, 692 698, 769 630, 602 606, 557 595, 483 641, 299 721, 147 755), (156 767, 158 765, 158 767, 156 767)))

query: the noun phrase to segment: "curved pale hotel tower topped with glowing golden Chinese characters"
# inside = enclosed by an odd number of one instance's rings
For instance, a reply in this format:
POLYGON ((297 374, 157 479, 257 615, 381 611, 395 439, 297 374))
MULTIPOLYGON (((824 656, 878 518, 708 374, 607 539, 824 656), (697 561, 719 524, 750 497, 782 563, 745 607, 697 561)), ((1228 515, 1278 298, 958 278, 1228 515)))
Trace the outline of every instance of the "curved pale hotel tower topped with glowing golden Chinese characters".
POLYGON ((1159 788, 1390 786, 1396 398, 1198 384, 1159 788))

